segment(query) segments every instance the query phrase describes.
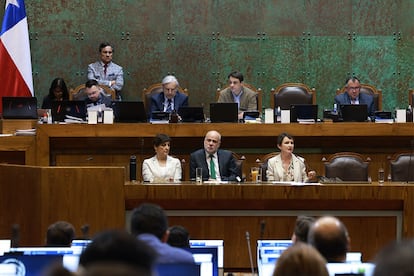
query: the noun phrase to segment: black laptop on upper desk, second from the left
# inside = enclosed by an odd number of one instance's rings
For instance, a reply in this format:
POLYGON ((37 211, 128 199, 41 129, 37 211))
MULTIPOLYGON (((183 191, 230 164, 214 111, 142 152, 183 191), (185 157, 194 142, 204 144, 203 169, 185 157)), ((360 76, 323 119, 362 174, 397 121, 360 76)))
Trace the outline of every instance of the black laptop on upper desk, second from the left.
POLYGON ((64 122, 67 115, 86 120, 85 101, 52 102, 52 120, 54 122, 64 122))

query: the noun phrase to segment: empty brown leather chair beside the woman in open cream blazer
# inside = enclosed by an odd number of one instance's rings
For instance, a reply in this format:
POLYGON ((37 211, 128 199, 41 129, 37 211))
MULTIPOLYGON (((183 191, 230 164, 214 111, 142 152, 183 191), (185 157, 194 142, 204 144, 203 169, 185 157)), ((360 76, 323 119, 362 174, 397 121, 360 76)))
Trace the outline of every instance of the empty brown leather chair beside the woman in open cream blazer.
POLYGON ((370 159, 355 152, 339 152, 329 157, 325 162, 325 176, 339 178, 342 181, 368 181, 368 166, 370 159))

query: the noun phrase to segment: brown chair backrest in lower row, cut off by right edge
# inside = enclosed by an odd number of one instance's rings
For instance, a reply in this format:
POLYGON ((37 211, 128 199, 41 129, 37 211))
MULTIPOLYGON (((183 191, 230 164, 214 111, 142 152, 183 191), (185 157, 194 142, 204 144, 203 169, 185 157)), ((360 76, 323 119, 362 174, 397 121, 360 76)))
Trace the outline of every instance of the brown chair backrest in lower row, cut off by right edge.
POLYGON ((414 181, 414 153, 399 153, 390 160, 392 181, 414 181))

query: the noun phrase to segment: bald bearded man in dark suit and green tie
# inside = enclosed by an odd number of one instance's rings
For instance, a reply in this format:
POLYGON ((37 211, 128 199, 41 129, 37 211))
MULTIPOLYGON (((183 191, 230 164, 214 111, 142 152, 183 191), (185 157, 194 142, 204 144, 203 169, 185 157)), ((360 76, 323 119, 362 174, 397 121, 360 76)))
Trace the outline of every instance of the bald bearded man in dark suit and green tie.
POLYGON ((237 166, 233 154, 219 149, 221 135, 210 130, 204 137, 204 148, 190 155, 190 178, 195 179, 196 168, 202 168, 203 180, 236 181, 237 166))

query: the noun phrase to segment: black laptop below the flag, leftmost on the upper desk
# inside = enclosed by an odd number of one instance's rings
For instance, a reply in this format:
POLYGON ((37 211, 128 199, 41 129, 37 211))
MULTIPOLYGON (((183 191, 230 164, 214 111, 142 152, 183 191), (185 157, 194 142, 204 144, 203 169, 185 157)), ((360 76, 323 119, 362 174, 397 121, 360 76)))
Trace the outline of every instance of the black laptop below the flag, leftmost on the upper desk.
POLYGON ((3 97, 4 119, 38 119, 36 97, 3 97))

